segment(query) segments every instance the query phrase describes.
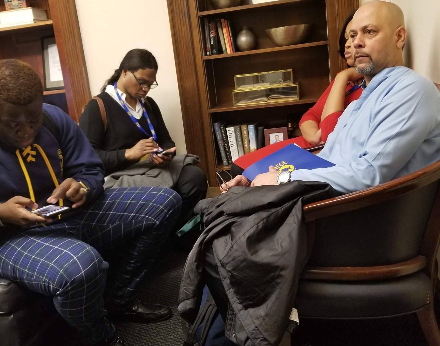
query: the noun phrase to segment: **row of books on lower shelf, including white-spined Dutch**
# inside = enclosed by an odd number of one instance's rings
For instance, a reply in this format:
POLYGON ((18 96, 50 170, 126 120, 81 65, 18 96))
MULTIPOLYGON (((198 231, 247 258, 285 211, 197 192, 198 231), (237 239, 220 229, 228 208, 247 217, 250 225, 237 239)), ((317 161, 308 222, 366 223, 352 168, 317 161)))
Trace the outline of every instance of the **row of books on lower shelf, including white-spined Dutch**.
POLYGON ((226 125, 213 124, 223 164, 232 164, 238 157, 263 147, 264 126, 258 123, 226 125))

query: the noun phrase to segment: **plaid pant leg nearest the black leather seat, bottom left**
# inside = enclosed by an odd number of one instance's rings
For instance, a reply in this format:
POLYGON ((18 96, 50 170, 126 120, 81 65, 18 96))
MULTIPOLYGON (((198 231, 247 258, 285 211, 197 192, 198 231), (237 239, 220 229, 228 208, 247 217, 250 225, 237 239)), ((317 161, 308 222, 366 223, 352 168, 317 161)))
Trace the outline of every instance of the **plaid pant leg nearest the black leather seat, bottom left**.
POLYGON ((90 245, 66 233, 69 226, 28 229, 0 240, 0 276, 43 295, 89 344, 114 339, 104 318, 108 264, 90 245))

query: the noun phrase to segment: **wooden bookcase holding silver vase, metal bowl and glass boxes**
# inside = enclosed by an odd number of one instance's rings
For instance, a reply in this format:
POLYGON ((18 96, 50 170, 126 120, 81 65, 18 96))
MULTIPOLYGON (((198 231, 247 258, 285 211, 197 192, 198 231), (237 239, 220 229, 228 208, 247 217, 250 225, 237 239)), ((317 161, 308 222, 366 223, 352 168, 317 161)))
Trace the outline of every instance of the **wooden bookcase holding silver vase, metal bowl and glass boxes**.
MULTIPOLYGON (((216 185, 215 171, 224 167, 218 152, 212 124, 218 120, 228 124, 258 121, 266 128, 286 127, 299 120, 334 78, 345 68, 338 54, 338 37, 346 16, 358 7, 357 0, 278 0, 261 4, 213 10, 208 0, 168 0, 177 73, 182 103, 187 151, 205 160, 209 184, 216 185), (176 16, 187 11, 187 18, 176 16), (243 26, 257 36, 255 50, 205 56, 204 18, 227 18, 236 33, 243 26), (279 47, 273 44, 265 29, 312 23, 312 33, 304 43, 279 47), (191 35, 183 30, 187 26, 191 35), (184 44, 192 48, 185 51, 184 44), (294 83, 300 84, 297 101, 262 105, 234 106, 234 75, 293 69, 294 83), (191 71, 193 73, 191 73, 191 71), (197 92, 197 94, 195 94, 197 92), (185 105, 189 93, 197 95, 192 109, 185 105), (205 148, 200 142, 203 141, 205 148)), ((191 94, 190 94, 191 95, 191 94)))

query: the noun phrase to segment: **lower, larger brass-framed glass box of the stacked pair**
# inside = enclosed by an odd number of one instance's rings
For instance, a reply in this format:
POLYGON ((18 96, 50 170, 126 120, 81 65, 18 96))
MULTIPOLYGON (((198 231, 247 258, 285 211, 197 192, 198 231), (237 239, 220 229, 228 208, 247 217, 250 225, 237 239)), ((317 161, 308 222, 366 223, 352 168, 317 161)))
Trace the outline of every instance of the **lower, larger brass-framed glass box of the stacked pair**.
POLYGON ((234 106, 260 105, 262 103, 295 101, 300 98, 299 84, 272 85, 245 90, 233 90, 234 106))

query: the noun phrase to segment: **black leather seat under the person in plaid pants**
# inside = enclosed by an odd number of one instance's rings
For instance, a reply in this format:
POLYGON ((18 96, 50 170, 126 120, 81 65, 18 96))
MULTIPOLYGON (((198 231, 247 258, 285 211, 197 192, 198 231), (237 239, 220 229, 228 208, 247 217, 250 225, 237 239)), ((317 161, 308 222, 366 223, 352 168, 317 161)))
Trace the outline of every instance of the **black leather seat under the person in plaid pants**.
POLYGON ((0 345, 33 345, 55 318, 51 297, 0 278, 0 345))

